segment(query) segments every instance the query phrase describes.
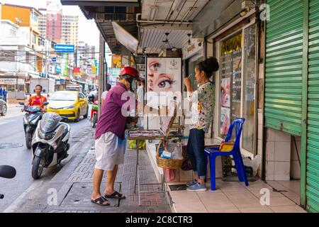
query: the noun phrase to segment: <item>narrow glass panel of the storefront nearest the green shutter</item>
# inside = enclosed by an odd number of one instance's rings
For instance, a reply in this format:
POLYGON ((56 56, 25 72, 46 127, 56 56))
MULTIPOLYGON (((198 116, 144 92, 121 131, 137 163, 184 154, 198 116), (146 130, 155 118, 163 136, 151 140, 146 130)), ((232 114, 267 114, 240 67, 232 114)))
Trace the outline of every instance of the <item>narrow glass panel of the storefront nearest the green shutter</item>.
POLYGON ((254 151, 254 84, 256 72, 256 24, 244 29, 244 101, 242 117, 242 148, 254 151))

